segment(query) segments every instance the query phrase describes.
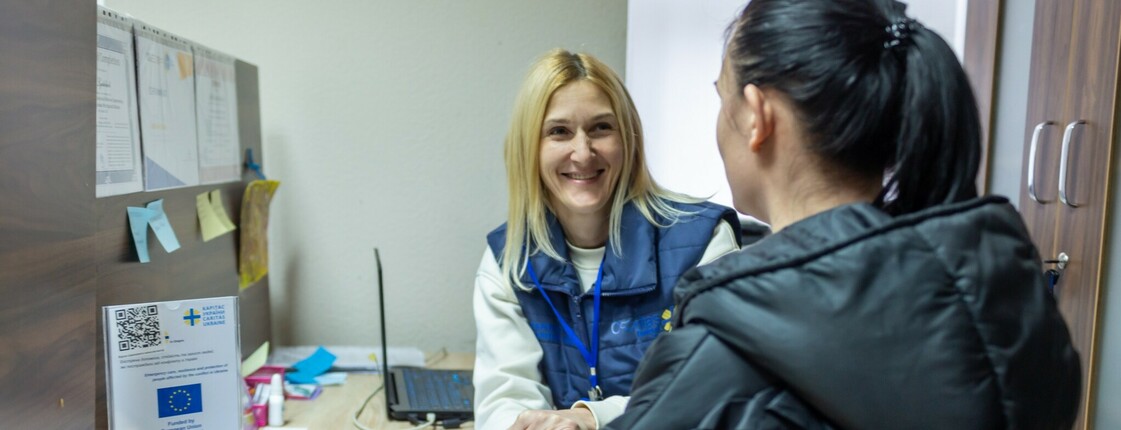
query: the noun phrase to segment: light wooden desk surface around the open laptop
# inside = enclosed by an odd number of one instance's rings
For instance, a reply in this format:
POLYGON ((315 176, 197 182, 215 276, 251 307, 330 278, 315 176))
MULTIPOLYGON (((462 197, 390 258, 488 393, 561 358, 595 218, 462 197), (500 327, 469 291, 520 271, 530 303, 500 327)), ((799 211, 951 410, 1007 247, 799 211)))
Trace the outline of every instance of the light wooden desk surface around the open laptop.
MULTIPOLYGON (((471 368, 475 355, 450 353, 429 363, 433 368, 471 368)), ((381 386, 381 374, 350 373, 342 385, 324 386, 315 400, 289 400, 285 402, 285 427, 305 427, 308 430, 356 429, 351 417, 362 401, 381 386)), ((408 429, 408 421, 390 421, 386 417, 386 392, 378 393, 362 410, 359 422, 371 429, 408 429)))

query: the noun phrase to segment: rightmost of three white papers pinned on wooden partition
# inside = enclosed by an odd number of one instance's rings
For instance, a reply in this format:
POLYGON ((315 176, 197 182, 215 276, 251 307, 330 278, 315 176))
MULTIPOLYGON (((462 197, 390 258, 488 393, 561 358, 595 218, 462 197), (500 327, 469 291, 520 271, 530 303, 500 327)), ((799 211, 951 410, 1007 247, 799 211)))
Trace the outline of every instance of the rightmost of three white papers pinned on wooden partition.
POLYGON ((197 45, 194 53, 198 179, 202 184, 241 180, 234 59, 197 45))

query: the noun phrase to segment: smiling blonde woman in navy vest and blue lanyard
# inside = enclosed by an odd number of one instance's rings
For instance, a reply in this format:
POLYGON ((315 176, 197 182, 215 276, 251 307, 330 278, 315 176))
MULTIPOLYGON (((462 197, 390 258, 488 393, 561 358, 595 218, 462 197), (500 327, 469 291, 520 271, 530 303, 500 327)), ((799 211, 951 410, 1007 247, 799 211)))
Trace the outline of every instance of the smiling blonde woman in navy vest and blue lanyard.
POLYGON ((687 270, 739 249, 735 212, 659 187, 619 76, 554 50, 506 139, 509 215, 475 277, 475 420, 594 429, 622 413, 687 270))

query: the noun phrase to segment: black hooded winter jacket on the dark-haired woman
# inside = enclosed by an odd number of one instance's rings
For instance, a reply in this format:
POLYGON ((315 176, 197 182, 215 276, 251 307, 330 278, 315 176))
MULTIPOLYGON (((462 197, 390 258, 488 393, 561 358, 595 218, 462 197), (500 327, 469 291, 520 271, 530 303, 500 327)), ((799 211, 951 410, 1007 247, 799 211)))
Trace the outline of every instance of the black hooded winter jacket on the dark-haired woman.
POLYGON ((1078 356, 1016 209, 834 208, 697 268, 611 429, 1067 429, 1078 356))

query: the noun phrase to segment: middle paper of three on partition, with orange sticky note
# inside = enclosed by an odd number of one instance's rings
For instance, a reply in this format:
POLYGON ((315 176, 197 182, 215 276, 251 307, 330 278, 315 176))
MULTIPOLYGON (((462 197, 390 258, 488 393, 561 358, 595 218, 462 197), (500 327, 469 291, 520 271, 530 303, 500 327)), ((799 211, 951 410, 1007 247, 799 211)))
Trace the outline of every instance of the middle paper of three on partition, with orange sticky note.
POLYGON ((183 38, 142 22, 137 35, 145 189, 198 185, 195 64, 183 38))

